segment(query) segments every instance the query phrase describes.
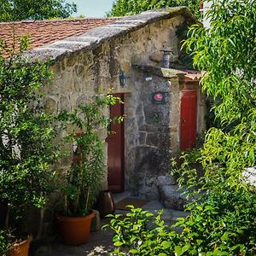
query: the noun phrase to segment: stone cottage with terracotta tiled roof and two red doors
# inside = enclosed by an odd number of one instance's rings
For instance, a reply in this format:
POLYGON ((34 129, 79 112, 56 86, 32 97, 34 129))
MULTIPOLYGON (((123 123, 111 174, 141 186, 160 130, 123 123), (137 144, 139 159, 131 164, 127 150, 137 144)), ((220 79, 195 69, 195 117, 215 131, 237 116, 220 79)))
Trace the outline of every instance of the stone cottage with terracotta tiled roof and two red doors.
MULTIPOLYGON (((200 73, 172 67, 179 55, 177 29, 195 22, 180 7, 122 18, 15 23, 18 35, 31 35, 26 55, 54 60, 54 79, 45 91, 50 111, 72 110, 110 88, 122 98, 124 104, 109 113, 125 114, 125 122, 112 125, 114 135, 104 134, 109 189, 158 198, 157 177, 169 172, 178 150, 195 146, 205 128, 200 73), (172 51, 169 68, 162 50, 172 51)), ((0 24, 0 38, 9 41, 10 29, 0 24)), ((69 165, 62 161, 63 168, 69 165)))

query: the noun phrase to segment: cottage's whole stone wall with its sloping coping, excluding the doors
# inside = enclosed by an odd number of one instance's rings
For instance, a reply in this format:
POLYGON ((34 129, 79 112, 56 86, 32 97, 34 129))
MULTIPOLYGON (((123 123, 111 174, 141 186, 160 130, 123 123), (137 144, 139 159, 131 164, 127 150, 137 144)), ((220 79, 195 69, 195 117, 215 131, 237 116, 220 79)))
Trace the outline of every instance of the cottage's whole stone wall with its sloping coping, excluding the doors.
MULTIPOLYGON (((172 61, 177 59, 176 31, 190 16, 188 9, 174 10, 124 17, 28 53, 32 58, 55 59, 53 81, 44 90, 45 105, 52 113, 73 110, 110 88, 125 93, 125 189, 154 199, 159 197, 155 181, 170 171, 169 160, 179 148, 181 83, 178 73, 145 73, 134 64, 160 65, 160 49, 165 48, 172 49, 172 61), (127 75, 125 88, 119 85, 120 70, 127 75), (166 104, 152 104, 151 93, 157 90, 165 91, 166 104)), ((102 140, 106 137, 107 132, 102 131, 102 140)), ((107 145, 104 147, 107 155, 107 145)), ((70 158, 63 158, 59 171, 70 163, 70 158)), ((58 203, 54 197, 53 210, 58 203)), ((51 218, 49 213, 46 221, 51 218)))

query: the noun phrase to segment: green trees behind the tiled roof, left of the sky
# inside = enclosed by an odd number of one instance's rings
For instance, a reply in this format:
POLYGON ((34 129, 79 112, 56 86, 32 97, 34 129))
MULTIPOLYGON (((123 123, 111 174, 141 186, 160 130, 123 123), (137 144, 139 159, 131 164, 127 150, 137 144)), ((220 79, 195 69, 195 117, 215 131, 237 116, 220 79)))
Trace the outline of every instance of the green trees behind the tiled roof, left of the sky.
POLYGON ((76 4, 65 0, 0 0, 0 21, 67 18, 76 11, 76 4))

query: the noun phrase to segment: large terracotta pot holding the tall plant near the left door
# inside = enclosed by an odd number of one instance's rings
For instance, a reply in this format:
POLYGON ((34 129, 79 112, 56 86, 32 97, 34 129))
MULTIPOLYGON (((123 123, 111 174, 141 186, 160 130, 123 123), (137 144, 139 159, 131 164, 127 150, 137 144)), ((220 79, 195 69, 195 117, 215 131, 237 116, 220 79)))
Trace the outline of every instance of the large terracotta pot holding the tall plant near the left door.
POLYGON ((88 241, 90 238, 90 223, 94 217, 95 212, 91 212, 86 217, 57 216, 62 242, 66 245, 78 246, 88 241))

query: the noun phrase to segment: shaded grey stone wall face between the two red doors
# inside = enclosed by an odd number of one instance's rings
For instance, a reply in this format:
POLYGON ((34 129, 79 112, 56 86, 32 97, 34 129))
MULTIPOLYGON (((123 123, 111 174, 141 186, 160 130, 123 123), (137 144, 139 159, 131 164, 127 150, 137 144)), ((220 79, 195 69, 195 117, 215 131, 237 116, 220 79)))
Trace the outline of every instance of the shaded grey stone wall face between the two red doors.
POLYGON ((169 170, 172 81, 137 72, 125 109, 125 187, 134 195, 158 196, 154 178, 169 170), (152 93, 164 91, 166 104, 152 104, 152 93), (134 109, 132 113, 129 109, 134 109))

